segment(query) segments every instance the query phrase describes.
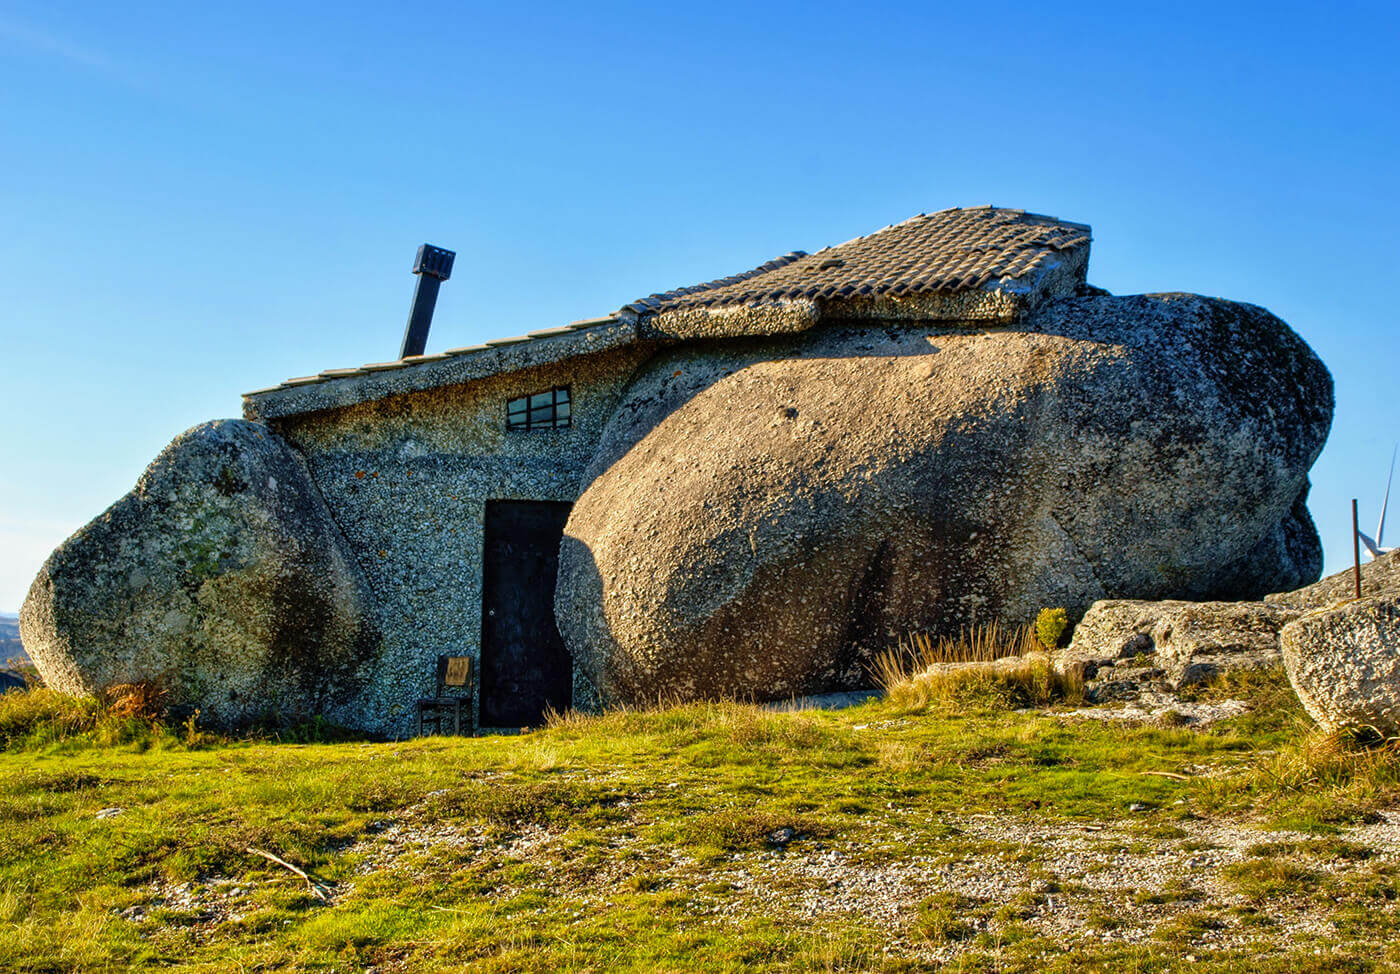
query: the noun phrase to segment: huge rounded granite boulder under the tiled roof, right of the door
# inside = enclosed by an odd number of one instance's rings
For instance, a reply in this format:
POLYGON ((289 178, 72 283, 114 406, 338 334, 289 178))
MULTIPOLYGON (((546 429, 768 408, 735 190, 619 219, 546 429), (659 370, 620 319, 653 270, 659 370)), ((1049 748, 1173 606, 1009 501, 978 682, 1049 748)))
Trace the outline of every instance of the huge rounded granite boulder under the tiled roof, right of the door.
POLYGON ((1331 378, 1281 320, 1088 295, 1009 327, 685 346, 610 418, 556 614, 605 700, 868 683, 893 635, 1315 579, 1331 378))

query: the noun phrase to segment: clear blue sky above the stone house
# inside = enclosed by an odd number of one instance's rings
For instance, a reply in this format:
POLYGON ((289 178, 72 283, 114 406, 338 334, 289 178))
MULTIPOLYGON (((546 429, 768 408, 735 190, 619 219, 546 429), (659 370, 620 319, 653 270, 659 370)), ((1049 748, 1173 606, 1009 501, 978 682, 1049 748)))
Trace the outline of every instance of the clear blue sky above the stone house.
POLYGON ((1337 381, 1329 570, 1375 521, 1393 0, 392 7, 0 0, 0 610, 182 430, 393 357, 424 241, 431 351, 981 203, 1288 320, 1337 381))

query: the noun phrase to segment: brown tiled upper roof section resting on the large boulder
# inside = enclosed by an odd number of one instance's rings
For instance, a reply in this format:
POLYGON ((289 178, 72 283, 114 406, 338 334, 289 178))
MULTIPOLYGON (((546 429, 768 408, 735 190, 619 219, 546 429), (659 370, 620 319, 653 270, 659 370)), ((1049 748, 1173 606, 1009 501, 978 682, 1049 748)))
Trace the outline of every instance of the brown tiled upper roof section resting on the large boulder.
POLYGON ((967 291, 1014 280, 1089 242, 1089 227, 1025 210, 920 214, 816 253, 795 250, 743 274, 652 294, 622 312, 753 305, 794 298, 967 291))

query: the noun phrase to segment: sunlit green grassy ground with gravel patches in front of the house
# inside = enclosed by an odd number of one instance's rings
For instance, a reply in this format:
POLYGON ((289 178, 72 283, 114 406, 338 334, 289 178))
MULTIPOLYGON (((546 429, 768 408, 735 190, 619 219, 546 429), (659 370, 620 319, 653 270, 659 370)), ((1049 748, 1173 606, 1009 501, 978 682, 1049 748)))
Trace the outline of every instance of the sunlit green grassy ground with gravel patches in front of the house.
POLYGON ((1400 763, 1312 737, 1280 675, 1207 691, 1253 710, 1204 729, 984 690, 406 743, 10 694, 0 968, 1400 963, 1400 763))

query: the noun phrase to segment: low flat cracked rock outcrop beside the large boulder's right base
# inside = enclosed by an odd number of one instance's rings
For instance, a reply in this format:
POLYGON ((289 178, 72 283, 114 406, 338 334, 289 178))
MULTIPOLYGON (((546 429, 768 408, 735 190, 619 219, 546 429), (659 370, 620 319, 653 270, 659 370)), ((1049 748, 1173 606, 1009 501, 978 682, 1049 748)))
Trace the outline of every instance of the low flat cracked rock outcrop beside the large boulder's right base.
POLYGON ((1264 602, 1095 602, 1056 666, 1081 669, 1095 700, 1180 690, 1221 670, 1277 665, 1278 631, 1298 616, 1264 602))

